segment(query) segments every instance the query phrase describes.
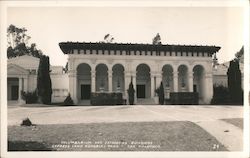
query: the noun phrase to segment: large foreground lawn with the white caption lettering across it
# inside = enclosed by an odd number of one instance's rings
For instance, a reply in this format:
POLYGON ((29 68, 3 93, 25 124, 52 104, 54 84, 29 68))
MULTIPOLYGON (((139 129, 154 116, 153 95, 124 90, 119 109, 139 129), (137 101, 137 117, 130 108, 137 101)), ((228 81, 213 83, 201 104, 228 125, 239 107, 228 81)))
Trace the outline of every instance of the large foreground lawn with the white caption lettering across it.
POLYGON ((9 126, 8 150, 227 151, 187 121, 9 126))

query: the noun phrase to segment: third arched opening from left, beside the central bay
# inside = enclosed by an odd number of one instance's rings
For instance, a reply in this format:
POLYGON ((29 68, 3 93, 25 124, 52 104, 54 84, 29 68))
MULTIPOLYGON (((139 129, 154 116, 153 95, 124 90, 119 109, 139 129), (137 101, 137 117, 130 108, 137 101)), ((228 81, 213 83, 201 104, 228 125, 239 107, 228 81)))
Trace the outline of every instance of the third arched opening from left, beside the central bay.
POLYGON ((125 93, 124 88, 124 67, 121 64, 116 64, 112 68, 112 87, 113 92, 125 93))

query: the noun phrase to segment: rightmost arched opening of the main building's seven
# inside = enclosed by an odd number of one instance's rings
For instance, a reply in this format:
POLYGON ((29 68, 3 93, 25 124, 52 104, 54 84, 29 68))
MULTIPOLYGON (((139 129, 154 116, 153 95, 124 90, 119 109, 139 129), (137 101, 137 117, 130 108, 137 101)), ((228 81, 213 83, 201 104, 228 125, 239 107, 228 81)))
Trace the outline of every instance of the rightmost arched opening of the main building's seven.
POLYGON ((204 93, 205 93, 205 69, 201 65, 196 65, 193 68, 193 91, 198 92, 199 94, 199 102, 204 101, 204 93))

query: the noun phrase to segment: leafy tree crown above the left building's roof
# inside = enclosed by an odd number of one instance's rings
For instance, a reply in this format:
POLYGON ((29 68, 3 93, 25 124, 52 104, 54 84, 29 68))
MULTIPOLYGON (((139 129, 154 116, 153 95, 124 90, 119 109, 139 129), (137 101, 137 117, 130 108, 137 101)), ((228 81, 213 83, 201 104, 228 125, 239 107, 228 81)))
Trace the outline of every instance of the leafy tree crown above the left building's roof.
POLYGON ((36 49, 36 44, 32 43, 28 46, 28 41, 30 36, 26 34, 27 29, 18 28, 15 25, 10 25, 7 29, 7 57, 13 58, 22 55, 32 55, 34 57, 40 58, 42 56, 42 51, 36 49))

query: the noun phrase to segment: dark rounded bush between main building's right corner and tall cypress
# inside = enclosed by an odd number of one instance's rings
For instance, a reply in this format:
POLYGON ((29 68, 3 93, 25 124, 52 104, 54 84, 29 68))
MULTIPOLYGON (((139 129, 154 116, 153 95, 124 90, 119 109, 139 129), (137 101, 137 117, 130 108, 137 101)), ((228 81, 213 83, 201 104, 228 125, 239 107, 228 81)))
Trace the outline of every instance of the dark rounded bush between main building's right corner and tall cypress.
POLYGON ((227 105, 229 104, 229 90, 223 85, 213 86, 213 98, 211 100, 212 105, 227 105))

